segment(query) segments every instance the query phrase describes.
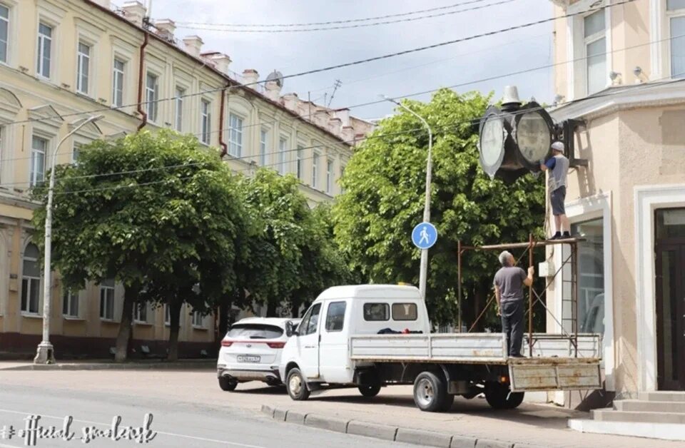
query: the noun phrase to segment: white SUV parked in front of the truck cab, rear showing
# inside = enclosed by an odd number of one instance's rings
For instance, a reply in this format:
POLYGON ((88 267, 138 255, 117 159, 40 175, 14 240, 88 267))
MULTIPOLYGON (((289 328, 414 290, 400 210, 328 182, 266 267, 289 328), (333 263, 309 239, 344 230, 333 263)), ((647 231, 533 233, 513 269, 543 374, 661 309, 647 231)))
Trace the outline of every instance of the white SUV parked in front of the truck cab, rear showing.
POLYGON ((280 354, 288 337, 285 322, 297 326, 299 319, 248 317, 231 325, 221 341, 216 363, 219 387, 235 390, 239 382, 263 381, 281 384, 278 375, 280 354))

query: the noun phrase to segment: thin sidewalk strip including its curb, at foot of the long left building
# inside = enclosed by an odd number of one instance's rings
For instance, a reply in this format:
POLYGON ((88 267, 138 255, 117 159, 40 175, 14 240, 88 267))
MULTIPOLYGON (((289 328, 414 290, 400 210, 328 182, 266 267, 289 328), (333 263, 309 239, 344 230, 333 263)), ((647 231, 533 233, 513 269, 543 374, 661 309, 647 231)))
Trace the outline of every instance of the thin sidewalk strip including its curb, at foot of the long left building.
POLYGON ((68 360, 56 364, 34 364, 31 361, 0 361, 0 370, 182 370, 216 368, 216 360, 68 360))

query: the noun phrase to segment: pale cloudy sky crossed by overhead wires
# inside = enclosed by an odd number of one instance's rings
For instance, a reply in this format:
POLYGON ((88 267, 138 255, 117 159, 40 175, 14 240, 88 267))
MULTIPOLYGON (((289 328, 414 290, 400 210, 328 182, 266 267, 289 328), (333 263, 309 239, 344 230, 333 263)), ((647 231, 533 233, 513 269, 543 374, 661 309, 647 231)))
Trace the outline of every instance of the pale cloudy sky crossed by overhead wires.
MULTIPOLYGON (((149 0, 141 0, 146 3, 149 0)), ((121 6, 124 0, 113 0, 121 6)), ((153 0, 152 19, 177 22, 176 37, 197 34, 204 41, 202 51, 220 51, 232 59, 230 70, 242 73, 254 68, 260 79, 271 71, 284 75, 300 73, 338 63, 392 54, 420 46, 462 39, 475 34, 508 28, 552 16, 552 2, 547 0, 153 0), (412 19, 444 14, 395 24, 291 33, 248 33, 186 28, 180 22, 198 24, 296 24, 364 19, 388 14, 463 4, 375 21, 412 19), (496 4, 475 11, 461 11, 496 4), (454 11, 455 14, 445 14, 454 11)), ((340 26, 340 25, 328 25, 340 26)), ((203 25, 206 28, 206 25, 203 25)), ((316 28, 320 26, 315 26, 316 28)), ((240 28, 233 29, 255 29, 240 28)), ((266 29, 266 28, 258 28, 266 29)), ((520 75, 479 81, 515 71, 552 63, 552 22, 485 36, 470 41, 440 46, 382 61, 363 63, 323 73, 288 78, 282 94, 295 92, 302 99, 328 103, 336 80, 341 86, 330 103, 333 108, 377 101, 385 94, 392 98, 455 86, 458 92, 482 91, 501 98, 504 86, 518 87, 523 100, 534 97, 552 103, 552 70, 545 68, 520 75)), ((412 96, 429 101, 430 94, 412 96)), ((352 108, 361 118, 382 118, 392 113, 394 105, 382 102, 352 108)))

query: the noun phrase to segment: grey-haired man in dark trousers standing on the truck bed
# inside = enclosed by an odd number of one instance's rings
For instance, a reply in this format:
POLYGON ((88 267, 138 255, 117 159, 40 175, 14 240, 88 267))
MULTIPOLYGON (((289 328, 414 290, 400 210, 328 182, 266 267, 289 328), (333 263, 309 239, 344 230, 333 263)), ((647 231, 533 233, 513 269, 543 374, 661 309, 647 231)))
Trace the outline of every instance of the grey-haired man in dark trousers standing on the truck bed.
POLYGON ((502 332, 507 335, 507 355, 521 357, 523 340, 523 286, 533 284, 535 268, 528 268, 528 275, 514 264, 514 255, 504 250, 499 254, 499 268, 494 275, 494 297, 497 299, 497 315, 502 317, 502 332))

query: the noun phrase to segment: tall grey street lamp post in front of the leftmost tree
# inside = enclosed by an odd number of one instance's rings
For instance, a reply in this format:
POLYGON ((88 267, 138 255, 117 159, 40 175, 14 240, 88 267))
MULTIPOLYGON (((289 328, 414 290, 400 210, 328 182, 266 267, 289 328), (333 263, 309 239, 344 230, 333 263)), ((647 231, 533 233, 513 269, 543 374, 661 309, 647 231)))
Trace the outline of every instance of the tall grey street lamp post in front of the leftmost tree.
POLYGON ((52 169, 50 170, 50 184, 48 187, 48 204, 46 206, 45 214, 45 265, 43 270, 43 340, 38 345, 36 350, 35 364, 54 364, 55 354, 50 342, 50 302, 52 298, 52 282, 51 282, 51 256, 52 256, 52 196, 55 188, 55 163, 57 160, 57 153, 59 148, 66 141, 67 138, 73 136, 76 131, 86 126, 88 123, 93 123, 103 118, 102 115, 90 116, 82 121, 76 128, 64 136, 55 152, 52 153, 52 169))

